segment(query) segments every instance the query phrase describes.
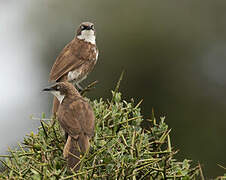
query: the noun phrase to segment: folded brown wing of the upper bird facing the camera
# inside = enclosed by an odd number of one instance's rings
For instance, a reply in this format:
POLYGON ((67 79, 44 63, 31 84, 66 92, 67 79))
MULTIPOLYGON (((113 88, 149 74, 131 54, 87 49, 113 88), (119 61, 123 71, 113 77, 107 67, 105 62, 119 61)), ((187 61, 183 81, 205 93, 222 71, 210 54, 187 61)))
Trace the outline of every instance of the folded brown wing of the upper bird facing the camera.
POLYGON ((73 39, 57 57, 50 72, 50 81, 59 80, 69 71, 77 69, 85 63, 82 56, 79 56, 79 48, 76 49, 75 43, 75 39, 73 39))

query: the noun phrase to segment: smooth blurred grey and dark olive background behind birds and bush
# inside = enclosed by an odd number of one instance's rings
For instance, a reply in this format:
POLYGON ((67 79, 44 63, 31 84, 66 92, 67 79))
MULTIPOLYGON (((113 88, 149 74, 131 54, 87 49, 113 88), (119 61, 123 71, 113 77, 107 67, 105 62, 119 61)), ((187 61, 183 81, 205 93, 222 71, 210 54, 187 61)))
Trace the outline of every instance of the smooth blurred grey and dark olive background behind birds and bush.
POLYGON ((83 86, 108 98, 123 69, 126 99, 167 115, 177 158, 207 177, 226 166, 226 1, 0 0, 0 153, 50 116, 52 64, 82 21, 96 25, 99 60, 83 86))

